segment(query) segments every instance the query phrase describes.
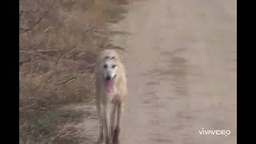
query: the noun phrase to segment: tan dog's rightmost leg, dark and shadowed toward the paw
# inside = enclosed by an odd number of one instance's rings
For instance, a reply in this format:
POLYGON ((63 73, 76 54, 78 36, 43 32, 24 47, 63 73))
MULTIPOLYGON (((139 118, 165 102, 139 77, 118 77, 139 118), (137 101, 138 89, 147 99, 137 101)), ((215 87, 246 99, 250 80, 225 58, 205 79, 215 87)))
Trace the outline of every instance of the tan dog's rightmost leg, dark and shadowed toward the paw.
POLYGON ((121 124, 121 117, 124 109, 124 103, 120 102, 116 104, 117 107, 117 125, 114 128, 113 134, 113 144, 119 144, 119 134, 120 134, 120 124, 121 124))

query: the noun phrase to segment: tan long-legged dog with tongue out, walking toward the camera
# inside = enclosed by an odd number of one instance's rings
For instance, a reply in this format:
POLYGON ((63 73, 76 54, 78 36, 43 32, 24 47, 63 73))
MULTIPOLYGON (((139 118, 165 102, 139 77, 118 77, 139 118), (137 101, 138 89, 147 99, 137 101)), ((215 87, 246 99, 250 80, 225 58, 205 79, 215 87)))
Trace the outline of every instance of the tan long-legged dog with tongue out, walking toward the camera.
POLYGON ((95 68, 96 106, 100 122, 98 143, 118 144, 127 96, 126 72, 117 52, 102 50, 95 68))

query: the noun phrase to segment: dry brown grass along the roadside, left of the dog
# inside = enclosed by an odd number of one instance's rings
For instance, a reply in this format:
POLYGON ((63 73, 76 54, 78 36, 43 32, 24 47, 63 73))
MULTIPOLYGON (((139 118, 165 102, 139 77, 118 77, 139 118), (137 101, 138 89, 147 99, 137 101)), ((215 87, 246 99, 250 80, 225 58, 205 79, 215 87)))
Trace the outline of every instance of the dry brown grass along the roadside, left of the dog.
POLYGON ((111 48, 106 23, 122 18, 126 2, 20 1, 20 143, 77 143, 60 131, 86 112, 61 107, 94 102, 95 57, 111 48))

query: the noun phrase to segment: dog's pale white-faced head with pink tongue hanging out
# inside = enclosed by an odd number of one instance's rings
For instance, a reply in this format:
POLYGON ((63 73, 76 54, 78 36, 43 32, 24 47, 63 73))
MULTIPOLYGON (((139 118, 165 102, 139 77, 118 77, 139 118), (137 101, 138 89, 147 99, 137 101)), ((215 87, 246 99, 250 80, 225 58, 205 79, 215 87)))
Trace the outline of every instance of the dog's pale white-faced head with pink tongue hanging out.
POLYGON ((114 91, 114 82, 118 73, 118 63, 115 56, 106 56, 102 62, 103 78, 107 92, 114 91))

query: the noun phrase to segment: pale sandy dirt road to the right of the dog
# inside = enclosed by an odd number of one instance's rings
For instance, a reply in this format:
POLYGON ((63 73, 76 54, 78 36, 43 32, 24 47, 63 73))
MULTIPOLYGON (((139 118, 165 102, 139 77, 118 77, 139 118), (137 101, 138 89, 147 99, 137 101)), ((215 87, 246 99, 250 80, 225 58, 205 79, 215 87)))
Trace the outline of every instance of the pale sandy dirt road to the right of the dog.
POLYGON ((129 33, 112 39, 127 50, 122 144, 236 143, 236 15, 232 0, 146 0, 110 26, 129 33))

